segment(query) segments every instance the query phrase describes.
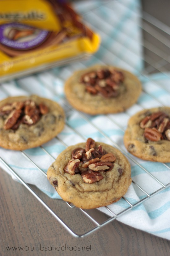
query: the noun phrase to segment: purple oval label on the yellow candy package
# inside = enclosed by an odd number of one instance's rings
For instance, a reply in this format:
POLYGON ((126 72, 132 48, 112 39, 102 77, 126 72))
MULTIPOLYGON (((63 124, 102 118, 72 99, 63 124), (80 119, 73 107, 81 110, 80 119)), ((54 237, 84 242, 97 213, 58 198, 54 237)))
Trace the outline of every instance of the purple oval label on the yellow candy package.
POLYGON ((8 23, 0 26, 0 43, 17 50, 34 48, 45 41, 49 31, 31 26, 8 23))

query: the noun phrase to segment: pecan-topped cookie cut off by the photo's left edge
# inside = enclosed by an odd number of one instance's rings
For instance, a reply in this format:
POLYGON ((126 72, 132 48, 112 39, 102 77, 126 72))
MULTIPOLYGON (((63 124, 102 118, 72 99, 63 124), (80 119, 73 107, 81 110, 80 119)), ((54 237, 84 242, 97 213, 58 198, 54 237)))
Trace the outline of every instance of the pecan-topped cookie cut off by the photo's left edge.
POLYGON ((51 140, 64 128, 61 106, 36 95, 8 97, 0 102, 0 146, 25 150, 51 140))

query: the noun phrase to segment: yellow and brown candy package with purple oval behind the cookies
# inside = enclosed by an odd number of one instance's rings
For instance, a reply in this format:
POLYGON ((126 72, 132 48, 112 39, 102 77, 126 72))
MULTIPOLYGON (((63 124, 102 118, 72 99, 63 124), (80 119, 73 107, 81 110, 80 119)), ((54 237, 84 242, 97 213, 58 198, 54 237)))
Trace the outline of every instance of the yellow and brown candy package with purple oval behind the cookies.
POLYGON ((64 1, 0 1, 0 82, 86 58, 99 44, 64 1))

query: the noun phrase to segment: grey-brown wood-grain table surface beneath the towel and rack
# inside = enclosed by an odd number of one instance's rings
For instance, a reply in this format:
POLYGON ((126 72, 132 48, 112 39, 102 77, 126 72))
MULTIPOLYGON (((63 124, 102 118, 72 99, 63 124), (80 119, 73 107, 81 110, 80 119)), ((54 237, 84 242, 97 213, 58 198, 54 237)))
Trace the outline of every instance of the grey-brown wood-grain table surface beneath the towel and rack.
MULTIPOLYGON (((142 1, 143 8, 169 25, 169 0, 142 1), (160 6, 160 2, 162 5, 160 6), (164 10, 164 11, 163 11, 164 10)), ((163 256, 170 255, 170 241, 129 227, 117 220, 110 222, 98 231, 75 238, 44 208, 42 204, 19 182, 0 169, 1 227, 0 255, 115 255, 115 256, 163 256), (21 247, 7 250, 8 247, 21 247), (39 247, 39 250, 38 250, 39 247), (56 251, 50 248, 56 247, 56 251), (48 250, 46 250, 48 248, 48 250), (72 250, 73 248, 73 250, 72 250), (77 250, 76 250, 77 249, 77 250), (72 251, 71 251, 72 250, 72 251)), ((48 203, 54 212, 63 219, 72 218, 70 225, 75 229, 87 230, 87 224, 62 200, 47 197, 36 187, 31 186, 48 203), (75 225, 76 223, 76 225, 75 225), (74 227, 73 227, 74 228, 74 227)), ((104 213, 94 210, 95 218, 101 222, 104 213)), ((54 249, 54 248, 53 248, 54 249)))

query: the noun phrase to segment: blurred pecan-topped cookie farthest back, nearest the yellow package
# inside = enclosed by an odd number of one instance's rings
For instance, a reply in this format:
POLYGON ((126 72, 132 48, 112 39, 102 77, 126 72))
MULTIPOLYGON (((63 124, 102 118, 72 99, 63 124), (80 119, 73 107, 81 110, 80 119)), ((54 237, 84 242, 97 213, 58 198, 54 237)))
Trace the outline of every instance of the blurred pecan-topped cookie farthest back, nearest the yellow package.
POLYGON ((90 115, 126 110, 138 100, 141 89, 136 76, 106 65, 76 71, 65 83, 69 103, 90 115))

